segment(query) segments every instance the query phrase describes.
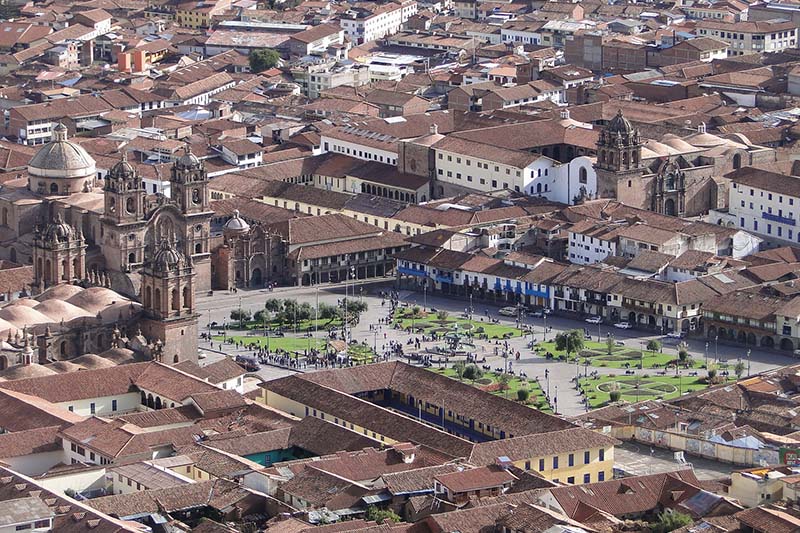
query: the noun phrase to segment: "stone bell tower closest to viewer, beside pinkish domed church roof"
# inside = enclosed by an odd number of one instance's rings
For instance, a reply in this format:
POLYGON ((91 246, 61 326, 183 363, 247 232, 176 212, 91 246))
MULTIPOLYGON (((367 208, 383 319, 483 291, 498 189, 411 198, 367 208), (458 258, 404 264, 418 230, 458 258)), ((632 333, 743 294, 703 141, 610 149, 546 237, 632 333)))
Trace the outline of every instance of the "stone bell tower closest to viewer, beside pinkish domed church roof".
POLYGON ((195 271, 186 257, 164 239, 142 268, 142 331, 162 343, 163 362, 197 362, 195 271))

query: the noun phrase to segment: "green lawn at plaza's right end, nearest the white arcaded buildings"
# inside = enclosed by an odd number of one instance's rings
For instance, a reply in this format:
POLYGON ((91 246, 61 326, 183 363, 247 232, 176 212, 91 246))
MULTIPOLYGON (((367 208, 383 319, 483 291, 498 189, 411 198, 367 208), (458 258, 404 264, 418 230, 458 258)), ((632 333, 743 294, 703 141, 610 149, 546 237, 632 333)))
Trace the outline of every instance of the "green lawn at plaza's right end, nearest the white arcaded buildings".
MULTIPOLYGON (((644 351, 644 357, 639 346, 614 346, 611 350, 611 355, 608 354, 608 346, 605 342, 584 341, 583 350, 580 352, 580 363, 583 365, 586 360, 589 361, 590 366, 608 367, 608 368, 638 368, 640 363, 644 363, 644 368, 663 368, 664 365, 675 361, 678 354, 674 348, 663 348, 665 352, 649 352, 644 351), (625 366, 625 365, 628 366, 625 366)), ((575 354, 570 354, 567 359, 567 354, 563 350, 556 349, 555 340, 539 343, 535 351, 537 355, 546 357, 547 354, 552 354, 555 359, 567 360, 574 362, 575 354)), ((693 360, 692 366, 699 368, 702 361, 693 360)))

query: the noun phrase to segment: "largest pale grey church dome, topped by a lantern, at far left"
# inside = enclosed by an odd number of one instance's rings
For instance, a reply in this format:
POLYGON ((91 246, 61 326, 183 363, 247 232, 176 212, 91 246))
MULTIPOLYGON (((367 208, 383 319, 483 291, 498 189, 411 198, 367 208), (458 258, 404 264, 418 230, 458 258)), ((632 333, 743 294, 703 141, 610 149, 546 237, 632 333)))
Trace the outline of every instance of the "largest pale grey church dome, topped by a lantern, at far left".
POLYGON ((28 173, 40 178, 85 178, 95 172, 95 160, 82 146, 67 140, 63 124, 53 129, 53 140, 28 163, 28 173))

